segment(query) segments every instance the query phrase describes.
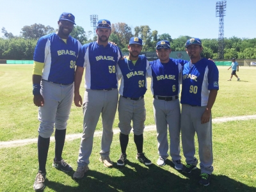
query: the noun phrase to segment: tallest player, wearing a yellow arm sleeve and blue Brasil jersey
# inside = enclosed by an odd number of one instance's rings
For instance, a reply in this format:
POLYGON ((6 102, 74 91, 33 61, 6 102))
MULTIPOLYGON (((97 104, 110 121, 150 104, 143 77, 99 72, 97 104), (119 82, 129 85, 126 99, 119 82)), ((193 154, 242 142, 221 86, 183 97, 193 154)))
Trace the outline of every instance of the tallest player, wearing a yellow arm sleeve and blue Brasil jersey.
POLYGON ((52 166, 63 172, 72 171, 61 154, 65 143, 67 120, 74 96, 74 73, 81 44, 69 34, 75 17, 62 13, 58 32, 42 36, 35 47, 33 69, 34 104, 38 106, 38 163, 34 189, 45 188, 45 164, 50 137, 55 125, 55 157, 52 166))

